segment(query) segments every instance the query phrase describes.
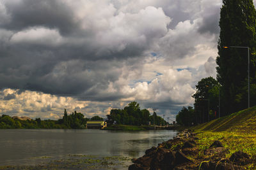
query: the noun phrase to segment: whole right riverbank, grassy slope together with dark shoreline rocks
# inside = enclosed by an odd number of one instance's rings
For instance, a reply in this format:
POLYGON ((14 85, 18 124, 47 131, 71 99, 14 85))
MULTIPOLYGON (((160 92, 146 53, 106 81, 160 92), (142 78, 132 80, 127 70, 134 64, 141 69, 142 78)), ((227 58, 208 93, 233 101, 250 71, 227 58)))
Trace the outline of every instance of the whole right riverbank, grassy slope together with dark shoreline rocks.
POLYGON ((255 131, 253 107, 184 131, 146 150, 129 169, 255 169, 255 131))

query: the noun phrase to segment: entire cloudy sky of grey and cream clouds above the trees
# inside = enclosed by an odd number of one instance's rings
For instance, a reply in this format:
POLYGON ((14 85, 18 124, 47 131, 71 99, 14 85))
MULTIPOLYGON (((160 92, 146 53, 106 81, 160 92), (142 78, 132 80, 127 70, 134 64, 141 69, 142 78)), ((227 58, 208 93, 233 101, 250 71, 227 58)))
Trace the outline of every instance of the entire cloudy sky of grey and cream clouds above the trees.
POLYGON ((216 77, 221 0, 0 0, 0 115, 175 120, 216 77))

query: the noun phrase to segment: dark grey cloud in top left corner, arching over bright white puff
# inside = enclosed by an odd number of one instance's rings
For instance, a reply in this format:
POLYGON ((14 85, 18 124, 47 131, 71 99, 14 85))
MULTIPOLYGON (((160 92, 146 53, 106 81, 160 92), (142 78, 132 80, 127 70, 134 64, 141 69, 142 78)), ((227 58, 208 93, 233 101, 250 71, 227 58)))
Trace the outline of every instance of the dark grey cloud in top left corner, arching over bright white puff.
POLYGON ((61 1, 5 1, 6 13, 10 22, 0 24, 4 29, 19 31, 33 26, 58 28, 68 34, 77 28, 72 9, 61 1))

